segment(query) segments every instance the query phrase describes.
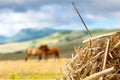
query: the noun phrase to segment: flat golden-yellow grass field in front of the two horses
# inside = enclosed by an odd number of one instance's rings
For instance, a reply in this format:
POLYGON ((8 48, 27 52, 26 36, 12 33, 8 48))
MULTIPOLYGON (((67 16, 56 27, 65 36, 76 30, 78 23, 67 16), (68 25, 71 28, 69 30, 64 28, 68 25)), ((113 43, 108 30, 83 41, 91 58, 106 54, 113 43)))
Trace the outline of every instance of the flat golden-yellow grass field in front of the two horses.
POLYGON ((69 59, 41 60, 6 60, 0 61, 0 79, 39 79, 54 80, 55 77, 63 77, 62 69, 69 59))

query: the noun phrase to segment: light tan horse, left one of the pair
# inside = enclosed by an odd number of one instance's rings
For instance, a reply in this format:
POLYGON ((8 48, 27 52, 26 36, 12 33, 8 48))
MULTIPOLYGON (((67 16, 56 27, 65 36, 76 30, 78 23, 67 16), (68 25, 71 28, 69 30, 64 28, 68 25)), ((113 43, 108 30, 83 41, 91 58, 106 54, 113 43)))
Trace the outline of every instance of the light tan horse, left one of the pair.
POLYGON ((25 61, 28 60, 28 58, 33 55, 33 56, 39 56, 38 60, 41 59, 41 55, 42 55, 42 50, 40 50, 39 48, 35 48, 35 49, 27 49, 26 50, 26 57, 25 57, 25 61))

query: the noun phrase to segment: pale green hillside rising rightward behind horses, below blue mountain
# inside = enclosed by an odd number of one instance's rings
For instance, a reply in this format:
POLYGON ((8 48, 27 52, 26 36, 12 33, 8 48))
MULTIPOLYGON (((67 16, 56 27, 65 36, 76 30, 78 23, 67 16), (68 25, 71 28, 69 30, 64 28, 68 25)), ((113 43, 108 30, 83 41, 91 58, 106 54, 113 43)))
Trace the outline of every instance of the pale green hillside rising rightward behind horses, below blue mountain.
MULTIPOLYGON (((95 30, 91 30, 91 33, 93 36, 95 36, 113 31, 120 31, 120 29, 117 30, 95 29, 95 30)), ((17 51, 25 50, 30 47, 32 48, 37 47, 40 44, 48 44, 50 47, 55 46, 60 49, 61 53, 65 53, 65 52, 69 53, 71 49, 73 50, 74 45, 82 44, 81 43, 82 40, 84 40, 87 37, 89 37, 89 35, 84 30, 75 30, 75 31, 64 30, 60 32, 55 32, 54 34, 39 39, 0 45, 0 53, 17 52, 17 51)))

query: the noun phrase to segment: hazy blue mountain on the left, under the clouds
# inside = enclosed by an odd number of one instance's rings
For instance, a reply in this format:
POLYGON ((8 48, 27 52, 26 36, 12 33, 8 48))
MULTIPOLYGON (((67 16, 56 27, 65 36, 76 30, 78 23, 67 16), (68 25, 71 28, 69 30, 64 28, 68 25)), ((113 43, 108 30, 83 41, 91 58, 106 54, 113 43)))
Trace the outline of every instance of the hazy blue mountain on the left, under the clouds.
POLYGON ((48 36, 50 34, 53 34, 55 32, 58 32, 59 30, 51 29, 51 28, 44 28, 44 29, 22 29, 17 34, 6 38, 4 36, 0 36, 0 43, 11 43, 11 42, 22 42, 22 41, 28 41, 33 40, 37 38, 42 38, 45 36, 48 36))

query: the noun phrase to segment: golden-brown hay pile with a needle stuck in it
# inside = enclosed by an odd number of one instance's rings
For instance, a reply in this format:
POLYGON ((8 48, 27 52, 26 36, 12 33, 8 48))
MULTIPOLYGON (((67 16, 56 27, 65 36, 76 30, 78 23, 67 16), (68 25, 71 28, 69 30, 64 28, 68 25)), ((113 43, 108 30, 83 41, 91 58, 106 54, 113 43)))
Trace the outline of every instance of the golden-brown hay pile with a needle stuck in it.
POLYGON ((120 80, 120 32, 92 37, 74 48, 63 80, 120 80))

